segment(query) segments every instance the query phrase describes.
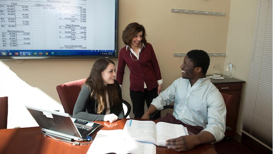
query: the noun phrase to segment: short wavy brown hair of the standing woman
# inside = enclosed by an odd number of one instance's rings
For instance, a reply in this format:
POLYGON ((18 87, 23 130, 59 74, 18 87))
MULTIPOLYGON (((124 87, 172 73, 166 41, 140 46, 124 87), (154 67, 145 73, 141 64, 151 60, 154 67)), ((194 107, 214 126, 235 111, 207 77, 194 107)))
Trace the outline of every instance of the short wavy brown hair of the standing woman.
POLYGON ((123 40, 124 44, 129 45, 131 47, 132 39, 134 38, 134 36, 138 32, 141 32, 141 31, 142 31, 142 40, 141 40, 141 42, 144 45, 146 45, 147 41, 146 41, 146 38, 145 38, 146 37, 145 28, 143 27, 143 25, 140 25, 137 22, 130 23, 129 25, 126 26, 126 28, 122 32, 122 40, 123 40))

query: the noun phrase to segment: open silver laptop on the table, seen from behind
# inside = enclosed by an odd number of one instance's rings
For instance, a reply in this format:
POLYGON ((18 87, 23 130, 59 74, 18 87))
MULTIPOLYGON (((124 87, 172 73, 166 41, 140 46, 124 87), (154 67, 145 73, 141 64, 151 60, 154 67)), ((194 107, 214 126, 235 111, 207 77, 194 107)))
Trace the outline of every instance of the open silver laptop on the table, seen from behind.
POLYGON ((49 136, 66 140, 84 141, 100 124, 82 119, 71 118, 68 113, 48 111, 25 106, 42 131, 49 136))

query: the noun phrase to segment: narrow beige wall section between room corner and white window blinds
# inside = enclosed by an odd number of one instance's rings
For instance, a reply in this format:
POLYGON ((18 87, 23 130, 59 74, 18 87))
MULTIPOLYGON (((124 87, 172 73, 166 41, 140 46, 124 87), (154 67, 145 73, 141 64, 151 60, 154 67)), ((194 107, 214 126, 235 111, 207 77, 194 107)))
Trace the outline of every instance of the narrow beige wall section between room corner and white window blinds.
POLYGON ((248 84, 256 8, 257 0, 231 0, 225 62, 233 63, 232 74, 234 78, 246 81, 243 85, 236 130, 240 135, 246 86, 248 84))

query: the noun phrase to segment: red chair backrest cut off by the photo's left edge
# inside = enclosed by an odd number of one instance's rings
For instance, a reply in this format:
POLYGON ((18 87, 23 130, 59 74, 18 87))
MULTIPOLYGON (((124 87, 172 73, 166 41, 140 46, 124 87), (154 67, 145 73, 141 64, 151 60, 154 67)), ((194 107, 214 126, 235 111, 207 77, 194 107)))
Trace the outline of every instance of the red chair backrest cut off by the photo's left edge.
POLYGON ((8 97, 0 97, 0 129, 6 129, 8 122, 8 97))

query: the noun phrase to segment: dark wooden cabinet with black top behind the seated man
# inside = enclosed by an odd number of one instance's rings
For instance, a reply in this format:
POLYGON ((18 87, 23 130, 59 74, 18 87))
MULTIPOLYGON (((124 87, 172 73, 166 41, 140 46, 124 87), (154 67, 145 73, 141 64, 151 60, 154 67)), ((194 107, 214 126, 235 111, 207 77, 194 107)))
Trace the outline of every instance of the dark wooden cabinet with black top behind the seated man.
POLYGON ((230 109, 227 111, 226 117, 226 126, 229 126, 231 130, 226 131, 225 136, 234 136, 237 129, 236 126, 241 100, 241 90, 244 81, 235 78, 225 78, 224 80, 211 79, 211 82, 219 89, 220 92, 233 95, 233 101, 231 103, 230 109))

